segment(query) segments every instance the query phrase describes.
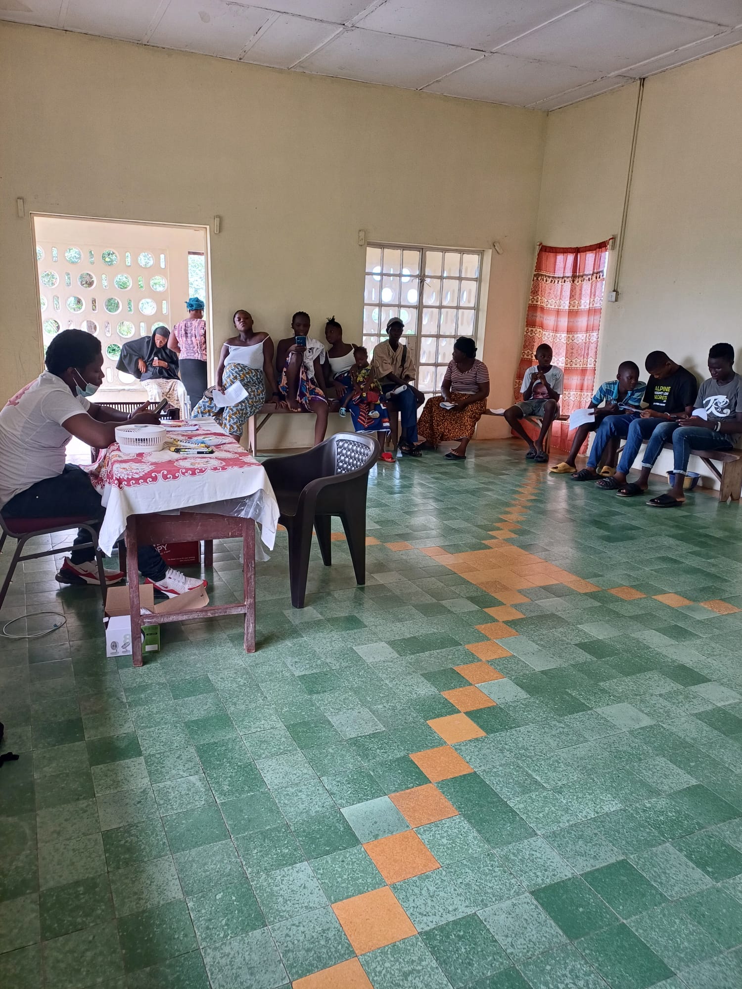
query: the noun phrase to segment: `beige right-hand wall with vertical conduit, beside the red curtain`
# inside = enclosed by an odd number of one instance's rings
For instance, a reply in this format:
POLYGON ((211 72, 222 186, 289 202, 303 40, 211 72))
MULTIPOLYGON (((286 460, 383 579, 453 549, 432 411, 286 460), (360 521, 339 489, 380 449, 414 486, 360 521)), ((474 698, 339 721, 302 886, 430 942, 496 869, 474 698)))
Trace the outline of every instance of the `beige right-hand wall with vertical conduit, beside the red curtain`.
MULTIPOLYGON (((540 240, 590 243, 617 232, 635 100, 631 86, 549 116, 540 240)), ((712 343, 739 349, 741 173, 742 45, 647 79, 620 295, 603 308, 599 383, 623 359, 643 369, 653 349, 700 378, 712 343)), ((608 282, 614 262, 611 254, 608 282)), ((658 473, 668 466, 663 455, 658 473)))

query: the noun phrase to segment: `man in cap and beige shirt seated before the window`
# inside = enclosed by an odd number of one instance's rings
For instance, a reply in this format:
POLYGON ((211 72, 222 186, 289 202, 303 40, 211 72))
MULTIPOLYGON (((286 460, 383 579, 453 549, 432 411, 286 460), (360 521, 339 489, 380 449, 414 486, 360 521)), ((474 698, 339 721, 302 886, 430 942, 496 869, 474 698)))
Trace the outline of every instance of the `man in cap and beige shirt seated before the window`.
POLYGON ((374 347, 373 370, 381 383, 387 408, 391 413, 390 424, 395 443, 397 441, 397 413, 400 415, 402 436, 400 450, 410 457, 419 457, 417 449, 417 408, 425 397, 412 384, 415 381, 415 361, 410 348, 401 343, 405 324, 399 316, 387 323, 388 340, 374 347))

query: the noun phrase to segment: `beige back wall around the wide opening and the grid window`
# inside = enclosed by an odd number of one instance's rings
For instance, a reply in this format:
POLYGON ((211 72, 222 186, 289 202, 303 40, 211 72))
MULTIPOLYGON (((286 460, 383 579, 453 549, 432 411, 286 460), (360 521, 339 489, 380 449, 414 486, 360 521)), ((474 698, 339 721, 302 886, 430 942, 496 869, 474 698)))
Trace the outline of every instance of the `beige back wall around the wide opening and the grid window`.
MULTIPOLYGON (((387 242, 487 249, 498 239, 482 356, 498 404, 510 393, 545 115, 19 25, 0 25, 0 46, 10 358, 0 398, 38 373, 31 210, 188 225, 221 216, 217 343, 238 307, 274 338, 305 309, 315 330, 334 314, 359 339, 359 228, 387 242)), ((276 417, 263 445, 306 445, 308 420, 276 417)), ((485 421, 481 435, 499 429, 485 421)))

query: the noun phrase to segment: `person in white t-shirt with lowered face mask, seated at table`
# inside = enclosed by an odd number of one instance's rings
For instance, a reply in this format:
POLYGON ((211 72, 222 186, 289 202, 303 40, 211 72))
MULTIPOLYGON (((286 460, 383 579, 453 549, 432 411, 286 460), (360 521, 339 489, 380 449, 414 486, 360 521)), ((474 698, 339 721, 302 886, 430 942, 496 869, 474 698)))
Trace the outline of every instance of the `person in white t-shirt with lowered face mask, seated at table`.
MULTIPOLYGON (((158 417, 142 405, 125 412, 89 399, 103 383, 100 340, 81 329, 58 333, 46 350, 46 371, 14 395, 0 410, 0 508, 3 517, 58 518, 85 515, 103 521, 101 495, 85 471, 64 462, 64 449, 72 438, 104 449, 114 442, 122 422, 156 423, 158 417)), ((75 543, 88 542, 80 530, 75 543)), ((98 584, 92 548, 73 550, 56 575, 60 584, 98 584)), ((170 570, 152 546, 139 546, 139 572, 147 584, 168 597, 182 594, 205 581, 170 570)), ((121 572, 107 573, 108 584, 124 579, 121 572)))

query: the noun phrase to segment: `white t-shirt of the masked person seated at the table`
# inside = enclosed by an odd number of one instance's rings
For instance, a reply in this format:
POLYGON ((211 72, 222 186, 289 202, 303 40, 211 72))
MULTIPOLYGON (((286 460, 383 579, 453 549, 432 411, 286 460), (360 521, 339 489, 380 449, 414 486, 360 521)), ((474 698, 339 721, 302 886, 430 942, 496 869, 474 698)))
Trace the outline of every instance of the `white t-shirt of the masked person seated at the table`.
POLYGON ((72 434, 64 422, 90 408, 56 375, 45 371, 0 409, 0 507, 38 481, 64 469, 72 434))

